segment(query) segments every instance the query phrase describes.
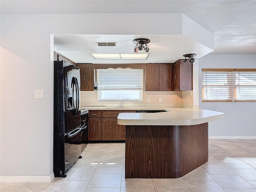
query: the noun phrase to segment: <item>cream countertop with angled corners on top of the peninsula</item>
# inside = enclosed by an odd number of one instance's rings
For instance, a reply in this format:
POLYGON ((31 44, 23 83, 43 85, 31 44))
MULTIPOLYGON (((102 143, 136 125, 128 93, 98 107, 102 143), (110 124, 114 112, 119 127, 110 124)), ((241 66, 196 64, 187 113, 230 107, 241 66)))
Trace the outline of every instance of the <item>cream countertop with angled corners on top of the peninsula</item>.
MULTIPOLYGON (((146 110, 146 108, 143 108, 146 110)), ((153 110, 153 108, 150 108, 153 110)), ((154 108, 166 110, 159 113, 120 113, 119 125, 197 125, 224 118, 224 113, 211 110, 192 110, 188 108, 154 108)), ((106 110, 106 108, 105 108, 106 110)), ((134 108, 134 110, 141 110, 134 108)))

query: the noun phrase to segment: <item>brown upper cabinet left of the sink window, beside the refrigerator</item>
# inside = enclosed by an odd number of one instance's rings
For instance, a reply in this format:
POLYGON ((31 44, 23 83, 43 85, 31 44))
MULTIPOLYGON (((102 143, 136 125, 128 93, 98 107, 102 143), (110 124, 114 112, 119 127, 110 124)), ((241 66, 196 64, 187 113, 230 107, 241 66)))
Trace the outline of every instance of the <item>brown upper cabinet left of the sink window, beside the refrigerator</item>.
POLYGON ((93 69, 92 64, 76 64, 80 68, 81 91, 93 91, 93 69))

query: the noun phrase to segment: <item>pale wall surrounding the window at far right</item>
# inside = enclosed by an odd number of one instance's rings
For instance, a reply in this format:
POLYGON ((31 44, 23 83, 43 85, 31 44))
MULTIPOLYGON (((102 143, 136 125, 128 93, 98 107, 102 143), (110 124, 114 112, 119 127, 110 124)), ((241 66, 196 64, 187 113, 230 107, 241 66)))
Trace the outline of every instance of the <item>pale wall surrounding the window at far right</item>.
MULTIPOLYGON (((199 93, 202 68, 256 68, 256 55, 211 54, 199 59, 199 93)), ((202 102, 199 108, 225 113, 222 120, 209 122, 209 138, 256 138, 256 102, 202 102)))

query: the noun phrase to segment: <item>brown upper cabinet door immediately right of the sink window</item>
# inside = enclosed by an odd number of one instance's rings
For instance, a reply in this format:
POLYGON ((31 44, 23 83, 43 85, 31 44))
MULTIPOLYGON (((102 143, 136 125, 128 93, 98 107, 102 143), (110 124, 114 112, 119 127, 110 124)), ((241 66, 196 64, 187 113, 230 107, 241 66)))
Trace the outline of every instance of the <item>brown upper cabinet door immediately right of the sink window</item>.
POLYGON ((145 90, 159 91, 159 64, 146 65, 145 90))

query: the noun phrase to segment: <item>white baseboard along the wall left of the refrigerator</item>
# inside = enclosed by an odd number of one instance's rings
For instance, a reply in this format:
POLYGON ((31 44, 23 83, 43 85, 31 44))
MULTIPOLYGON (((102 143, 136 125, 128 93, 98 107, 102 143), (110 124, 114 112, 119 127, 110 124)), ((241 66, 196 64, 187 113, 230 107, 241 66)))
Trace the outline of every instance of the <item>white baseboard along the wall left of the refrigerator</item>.
POLYGON ((0 183, 47 183, 54 179, 50 176, 0 176, 0 183))

